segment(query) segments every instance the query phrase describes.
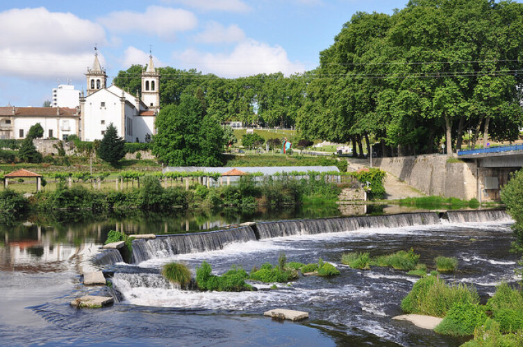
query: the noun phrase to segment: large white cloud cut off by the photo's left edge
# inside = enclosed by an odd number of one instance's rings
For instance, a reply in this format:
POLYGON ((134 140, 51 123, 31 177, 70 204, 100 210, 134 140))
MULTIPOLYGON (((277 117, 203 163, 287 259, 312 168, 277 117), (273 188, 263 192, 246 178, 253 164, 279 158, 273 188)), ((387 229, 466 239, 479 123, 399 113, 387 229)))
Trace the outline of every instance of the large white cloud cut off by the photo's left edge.
POLYGON ((6 10, 0 23, 3 76, 78 78, 92 65, 92 46, 107 44, 99 24, 46 8, 6 10))

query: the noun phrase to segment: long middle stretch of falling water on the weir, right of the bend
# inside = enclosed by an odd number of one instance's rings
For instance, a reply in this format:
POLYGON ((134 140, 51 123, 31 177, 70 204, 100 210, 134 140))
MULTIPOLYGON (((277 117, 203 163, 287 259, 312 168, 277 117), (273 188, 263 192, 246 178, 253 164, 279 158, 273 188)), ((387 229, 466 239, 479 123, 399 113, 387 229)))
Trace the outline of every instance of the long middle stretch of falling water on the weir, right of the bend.
POLYGON ((260 239, 290 235, 314 235, 324 232, 342 232, 363 228, 399 228, 440 223, 435 212, 388 214, 383 216, 306 219, 256 223, 260 239))

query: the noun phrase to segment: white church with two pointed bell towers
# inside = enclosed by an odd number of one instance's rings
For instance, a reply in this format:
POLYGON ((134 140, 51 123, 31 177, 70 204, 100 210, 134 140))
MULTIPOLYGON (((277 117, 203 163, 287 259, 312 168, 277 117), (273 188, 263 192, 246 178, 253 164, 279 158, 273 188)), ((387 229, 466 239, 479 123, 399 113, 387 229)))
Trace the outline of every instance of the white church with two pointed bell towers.
POLYGON ((142 72, 142 98, 133 96, 115 85, 106 87, 106 71, 98 55, 87 74, 87 96, 80 96, 81 139, 101 139, 109 124, 126 142, 145 142, 156 134, 154 121, 160 109, 160 75, 149 56, 149 65, 142 72))

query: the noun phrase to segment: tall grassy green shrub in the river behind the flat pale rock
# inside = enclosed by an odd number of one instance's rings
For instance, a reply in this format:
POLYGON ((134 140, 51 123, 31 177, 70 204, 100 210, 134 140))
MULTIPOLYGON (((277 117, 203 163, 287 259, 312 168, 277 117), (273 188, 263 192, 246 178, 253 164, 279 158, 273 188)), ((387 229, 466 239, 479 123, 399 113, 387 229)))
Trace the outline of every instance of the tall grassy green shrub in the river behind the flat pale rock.
POLYGON ((446 285, 437 276, 425 276, 415 282, 413 289, 401 301, 401 309, 406 313, 444 317, 458 302, 479 303, 476 289, 465 285, 446 285))

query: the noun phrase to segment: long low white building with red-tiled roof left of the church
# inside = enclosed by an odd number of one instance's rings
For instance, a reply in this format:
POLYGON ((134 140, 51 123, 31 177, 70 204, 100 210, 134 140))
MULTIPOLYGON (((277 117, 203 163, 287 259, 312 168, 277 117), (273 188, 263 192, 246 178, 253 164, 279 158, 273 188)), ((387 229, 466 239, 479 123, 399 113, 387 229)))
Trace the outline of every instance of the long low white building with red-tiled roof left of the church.
POLYGON ((24 139, 31 126, 40 123, 44 139, 67 139, 78 135, 77 108, 17 108, 0 107, 0 138, 24 139))

